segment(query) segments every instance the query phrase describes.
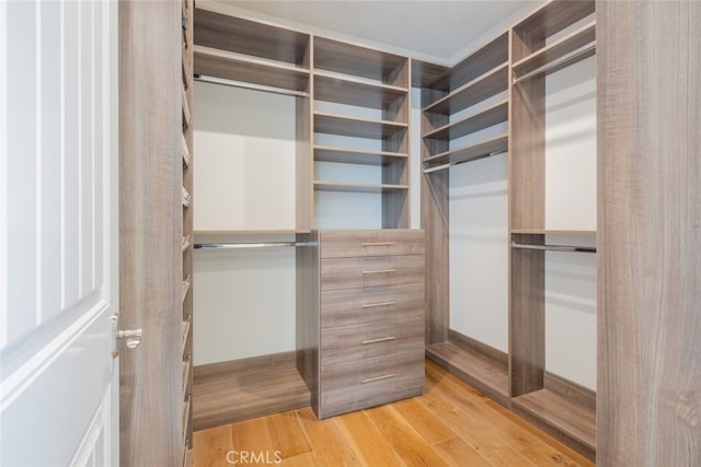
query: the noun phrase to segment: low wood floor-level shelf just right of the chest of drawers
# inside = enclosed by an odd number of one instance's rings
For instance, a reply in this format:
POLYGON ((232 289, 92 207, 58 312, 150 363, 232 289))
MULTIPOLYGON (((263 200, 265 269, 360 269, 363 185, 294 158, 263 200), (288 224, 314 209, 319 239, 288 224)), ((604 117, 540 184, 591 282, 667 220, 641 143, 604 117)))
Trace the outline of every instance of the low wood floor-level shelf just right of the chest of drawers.
POLYGON ((452 342, 426 346, 426 357, 462 381, 508 406, 508 362, 471 352, 452 342))

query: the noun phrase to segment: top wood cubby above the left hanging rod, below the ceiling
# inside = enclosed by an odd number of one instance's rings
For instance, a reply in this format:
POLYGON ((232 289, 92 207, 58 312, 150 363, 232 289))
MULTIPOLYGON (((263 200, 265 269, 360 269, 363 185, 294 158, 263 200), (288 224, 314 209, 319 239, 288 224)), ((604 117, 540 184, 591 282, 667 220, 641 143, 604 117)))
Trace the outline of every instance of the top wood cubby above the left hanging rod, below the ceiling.
POLYGON ((225 7, 218 8, 210 2, 198 2, 195 8, 194 42, 199 46, 309 69, 309 34, 233 16, 226 13, 225 7))

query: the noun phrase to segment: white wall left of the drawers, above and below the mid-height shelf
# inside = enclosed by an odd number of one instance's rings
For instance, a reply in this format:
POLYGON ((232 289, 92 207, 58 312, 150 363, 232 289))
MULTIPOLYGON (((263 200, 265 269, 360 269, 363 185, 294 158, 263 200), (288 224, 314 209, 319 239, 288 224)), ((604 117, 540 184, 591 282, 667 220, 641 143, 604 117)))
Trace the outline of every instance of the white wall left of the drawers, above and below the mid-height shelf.
MULTIPOLYGON (((295 97, 195 83, 194 227, 295 229, 295 97)), ((250 241, 250 237, 248 238, 250 241)), ((295 349, 295 250, 195 250, 196 365, 295 349)))

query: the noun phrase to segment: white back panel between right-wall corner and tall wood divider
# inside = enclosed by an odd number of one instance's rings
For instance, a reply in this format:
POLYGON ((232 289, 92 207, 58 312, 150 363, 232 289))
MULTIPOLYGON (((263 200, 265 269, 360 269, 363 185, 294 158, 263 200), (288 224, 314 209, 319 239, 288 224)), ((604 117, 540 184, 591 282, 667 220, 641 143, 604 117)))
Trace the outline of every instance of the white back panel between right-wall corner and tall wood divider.
POLYGON ((450 328, 508 351, 506 154, 450 168, 450 328))

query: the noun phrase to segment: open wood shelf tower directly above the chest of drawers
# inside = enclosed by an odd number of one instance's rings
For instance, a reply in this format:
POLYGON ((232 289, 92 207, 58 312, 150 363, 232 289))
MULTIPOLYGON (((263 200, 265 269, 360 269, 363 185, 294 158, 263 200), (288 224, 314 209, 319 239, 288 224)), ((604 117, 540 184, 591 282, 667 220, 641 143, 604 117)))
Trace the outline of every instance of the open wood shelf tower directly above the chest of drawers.
MULTIPOLYGON (((381 226, 409 227, 409 59, 323 37, 313 42, 317 205, 329 191, 377 194, 381 226), (370 170, 349 180, 345 164, 370 170)), ((324 225, 323 215, 317 225, 324 225)))

